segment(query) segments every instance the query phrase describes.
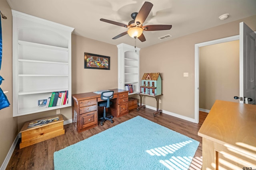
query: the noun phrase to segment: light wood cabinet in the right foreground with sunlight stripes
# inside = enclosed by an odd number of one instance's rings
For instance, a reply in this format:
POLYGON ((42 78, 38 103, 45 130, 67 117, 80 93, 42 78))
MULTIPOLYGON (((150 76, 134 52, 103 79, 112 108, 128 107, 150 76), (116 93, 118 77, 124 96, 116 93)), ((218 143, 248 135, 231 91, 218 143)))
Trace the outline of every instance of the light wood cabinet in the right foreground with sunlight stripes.
POLYGON ((216 100, 198 135, 202 170, 256 168, 255 105, 216 100))

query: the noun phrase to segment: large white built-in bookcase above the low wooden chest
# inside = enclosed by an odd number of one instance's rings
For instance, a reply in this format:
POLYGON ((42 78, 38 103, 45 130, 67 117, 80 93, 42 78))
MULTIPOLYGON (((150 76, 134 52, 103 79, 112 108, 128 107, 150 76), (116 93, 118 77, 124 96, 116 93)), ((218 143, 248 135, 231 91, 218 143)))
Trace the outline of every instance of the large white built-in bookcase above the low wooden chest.
POLYGON ((71 106, 72 27, 12 10, 13 116, 71 106), (68 104, 38 106, 52 92, 68 91, 68 104))

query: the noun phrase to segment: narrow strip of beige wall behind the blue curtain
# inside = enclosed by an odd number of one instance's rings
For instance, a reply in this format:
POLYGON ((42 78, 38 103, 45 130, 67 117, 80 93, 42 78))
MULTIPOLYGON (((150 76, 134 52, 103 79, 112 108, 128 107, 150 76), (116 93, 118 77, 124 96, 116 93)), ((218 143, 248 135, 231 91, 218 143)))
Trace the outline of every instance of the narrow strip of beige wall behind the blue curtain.
POLYGON ((2 66, 0 75, 4 78, 0 88, 8 91, 10 106, 0 110, 0 166, 17 136, 17 117, 12 117, 12 11, 6 0, 1 0, 0 10, 7 17, 2 21, 2 66))

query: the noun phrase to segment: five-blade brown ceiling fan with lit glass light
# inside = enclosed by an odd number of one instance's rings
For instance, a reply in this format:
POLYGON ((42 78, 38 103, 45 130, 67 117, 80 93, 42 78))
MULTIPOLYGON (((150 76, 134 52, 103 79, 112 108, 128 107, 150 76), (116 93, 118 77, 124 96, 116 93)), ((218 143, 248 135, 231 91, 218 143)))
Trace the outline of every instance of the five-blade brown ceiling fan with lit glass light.
POLYGON ((131 14, 132 21, 128 23, 128 25, 124 23, 119 23, 116 21, 111 21, 111 20, 106 20, 101 18, 100 21, 104 21, 107 23, 111 23, 114 25, 118 25, 121 27, 128 28, 128 31, 125 31, 123 33, 120 33, 119 35, 116 35, 116 37, 112 39, 117 39, 120 38, 126 34, 130 35, 132 38, 137 38, 141 41, 144 42, 146 41, 145 36, 143 35, 143 31, 159 31, 159 30, 168 30, 172 28, 172 25, 146 25, 143 26, 142 24, 148 17, 148 14, 150 13, 151 9, 153 7, 153 4, 150 2, 144 2, 143 6, 140 8, 139 12, 133 12, 131 14))

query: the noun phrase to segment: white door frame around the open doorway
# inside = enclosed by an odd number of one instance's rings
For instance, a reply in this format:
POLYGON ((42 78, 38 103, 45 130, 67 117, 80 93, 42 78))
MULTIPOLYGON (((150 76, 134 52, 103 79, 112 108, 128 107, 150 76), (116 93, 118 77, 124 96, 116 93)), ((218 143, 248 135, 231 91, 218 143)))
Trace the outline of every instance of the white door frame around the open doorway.
POLYGON ((199 47, 239 40, 239 35, 195 44, 195 123, 199 123, 199 47))

